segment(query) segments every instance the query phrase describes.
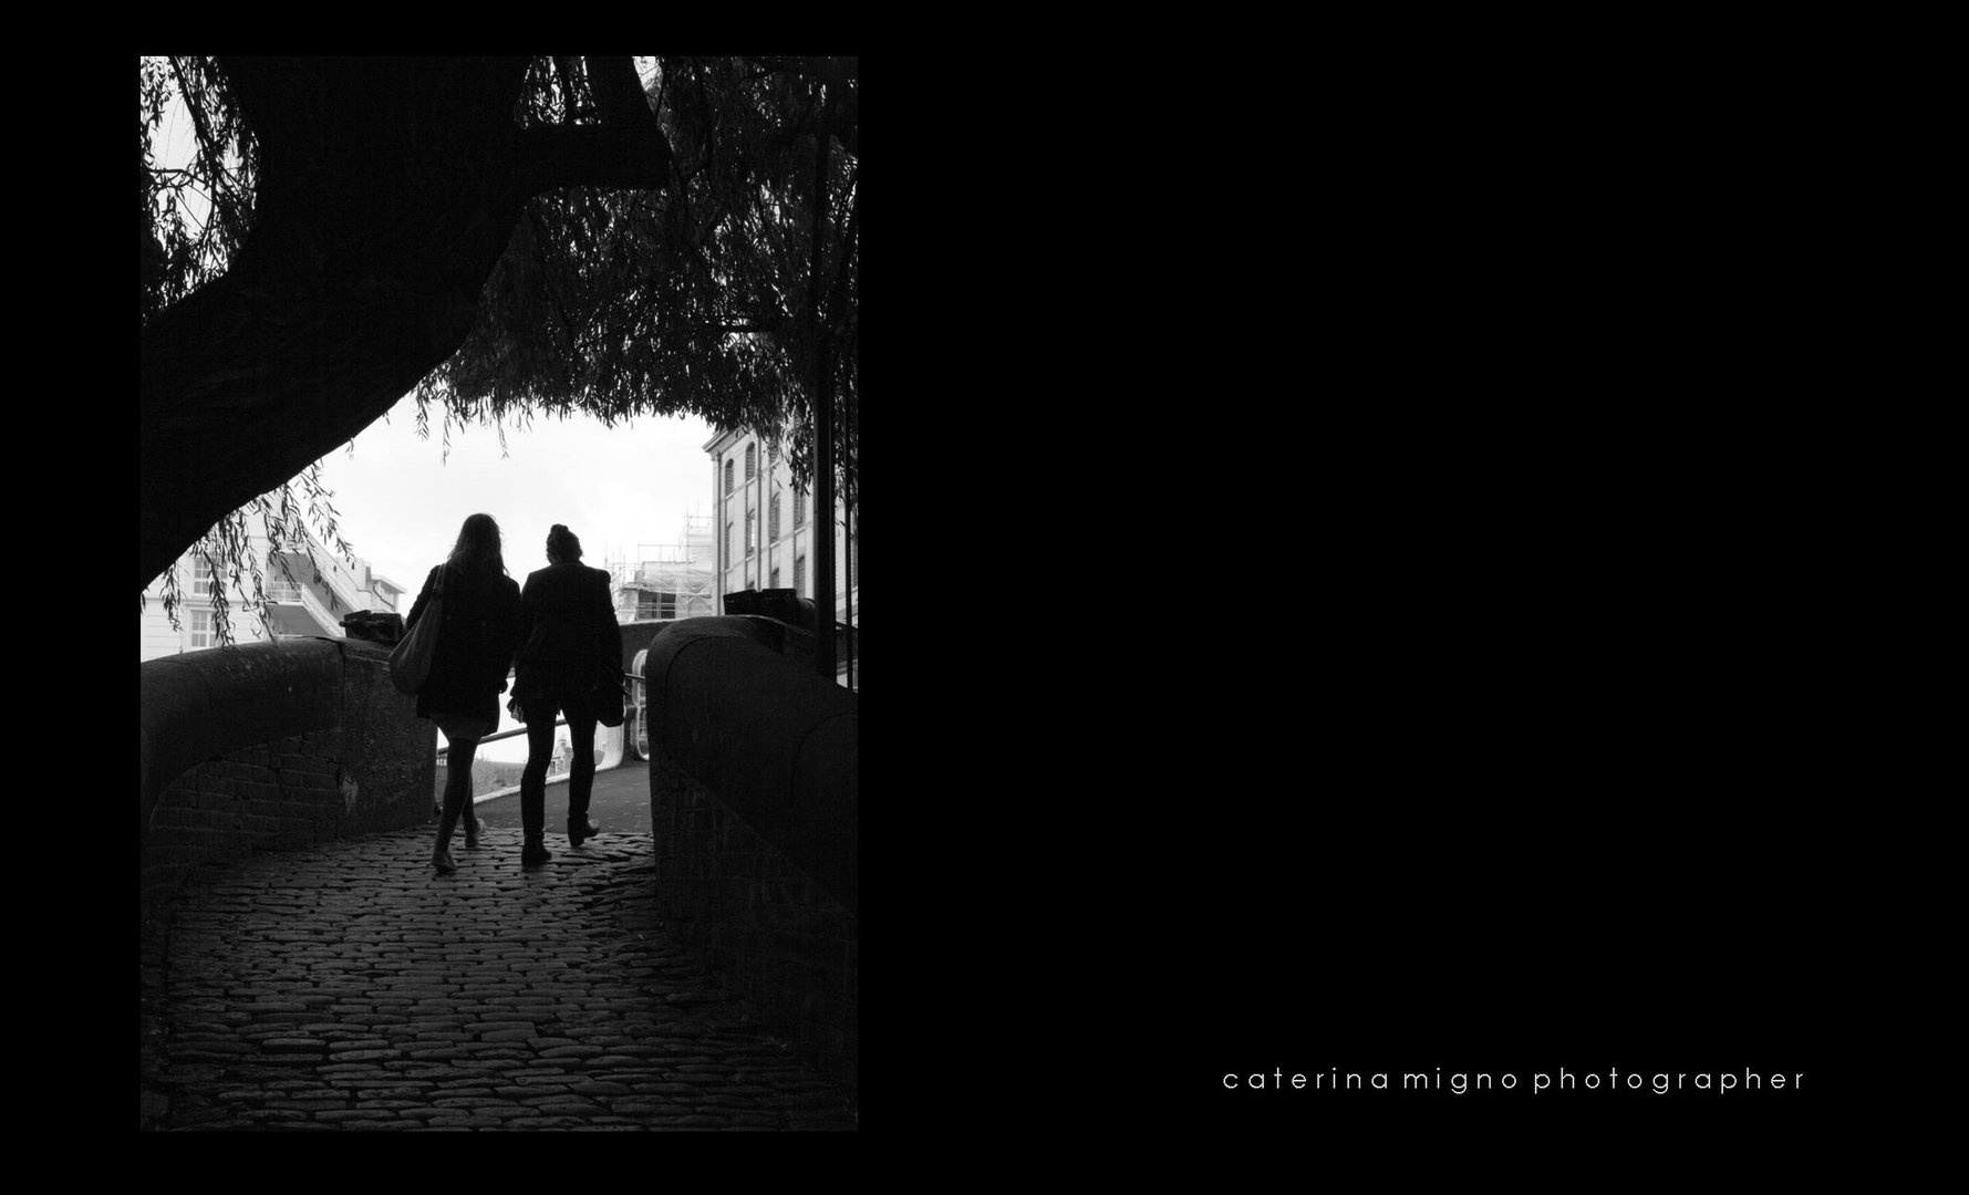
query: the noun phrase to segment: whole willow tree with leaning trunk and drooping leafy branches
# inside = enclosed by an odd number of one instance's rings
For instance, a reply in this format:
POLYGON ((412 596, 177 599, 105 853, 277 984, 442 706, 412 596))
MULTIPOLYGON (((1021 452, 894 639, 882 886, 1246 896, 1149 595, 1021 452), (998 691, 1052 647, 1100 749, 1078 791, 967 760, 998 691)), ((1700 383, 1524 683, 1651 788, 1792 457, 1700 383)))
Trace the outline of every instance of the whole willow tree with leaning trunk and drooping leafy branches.
POLYGON ((317 463, 406 394, 786 433, 801 480, 819 394, 853 502, 857 96, 853 57, 142 59, 144 585, 238 577, 254 514, 349 553, 317 463))

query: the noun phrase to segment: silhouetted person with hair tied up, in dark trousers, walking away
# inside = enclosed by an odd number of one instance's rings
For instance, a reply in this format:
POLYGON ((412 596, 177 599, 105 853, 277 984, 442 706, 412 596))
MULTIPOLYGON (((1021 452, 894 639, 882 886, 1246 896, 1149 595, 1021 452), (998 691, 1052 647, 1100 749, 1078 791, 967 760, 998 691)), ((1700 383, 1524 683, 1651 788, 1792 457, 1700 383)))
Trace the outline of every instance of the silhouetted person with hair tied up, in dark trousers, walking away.
POLYGON ((526 772, 520 774, 520 862, 553 858, 547 850, 547 760, 555 717, 567 717, 575 758, 567 776, 567 845, 579 847, 601 827, 589 821, 595 791, 595 691, 622 675, 622 628, 608 598, 608 573, 581 563, 581 539, 561 524, 547 532, 547 567, 530 573, 520 595, 522 648, 512 697, 526 721, 526 772))

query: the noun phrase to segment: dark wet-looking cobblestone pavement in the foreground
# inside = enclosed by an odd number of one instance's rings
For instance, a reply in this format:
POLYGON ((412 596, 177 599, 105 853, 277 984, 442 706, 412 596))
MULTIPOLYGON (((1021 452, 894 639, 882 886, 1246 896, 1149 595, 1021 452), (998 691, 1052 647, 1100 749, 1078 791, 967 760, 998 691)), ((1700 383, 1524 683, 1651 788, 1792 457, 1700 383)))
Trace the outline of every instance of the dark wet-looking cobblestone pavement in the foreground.
POLYGON ((675 947, 650 835, 260 854, 144 935, 146 1130, 857 1130, 675 947))

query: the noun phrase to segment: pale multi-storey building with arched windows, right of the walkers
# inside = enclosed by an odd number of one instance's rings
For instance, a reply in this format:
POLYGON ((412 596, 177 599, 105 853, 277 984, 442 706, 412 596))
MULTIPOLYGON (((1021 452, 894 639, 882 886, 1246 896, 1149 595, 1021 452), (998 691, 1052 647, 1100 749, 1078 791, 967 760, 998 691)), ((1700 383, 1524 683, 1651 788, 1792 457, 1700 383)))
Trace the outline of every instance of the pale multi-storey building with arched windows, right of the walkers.
MULTIPOLYGON (((833 518, 813 510, 811 494, 794 484, 792 467, 752 431, 725 431, 705 445, 711 455, 713 534, 717 537, 717 608, 725 595, 746 589, 792 589, 833 610, 835 626, 860 626, 860 585, 849 508, 835 500, 833 518), (835 537, 835 595, 815 595, 817 535, 835 537)), ((841 638, 841 636, 837 636, 841 638)), ((837 652, 837 675, 847 683, 849 660, 837 652)), ((858 661, 855 687, 860 685, 858 661)))

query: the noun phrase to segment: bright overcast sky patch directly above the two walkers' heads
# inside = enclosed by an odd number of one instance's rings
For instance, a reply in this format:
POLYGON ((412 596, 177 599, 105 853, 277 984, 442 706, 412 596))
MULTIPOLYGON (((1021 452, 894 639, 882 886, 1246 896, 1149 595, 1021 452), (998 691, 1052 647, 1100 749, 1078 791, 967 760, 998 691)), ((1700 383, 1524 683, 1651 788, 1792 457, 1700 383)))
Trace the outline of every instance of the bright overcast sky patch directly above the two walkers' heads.
POLYGON ((447 457, 439 417, 433 409, 429 439, 417 439, 417 406, 406 398, 362 429, 352 455, 345 445, 321 465, 349 547, 412 591, 404 614, 471 514, 498 520, 506 571, 524 585, 547 565, 553 524, 581 537, 581 563, 603 567, 642 559, 638 545, 681 543, 683 518, 713 512, 705 445, 715 433, 703 419, 534 419, 506 427, 504 455, 498 431, 475 423, 451 429, 447 457))

